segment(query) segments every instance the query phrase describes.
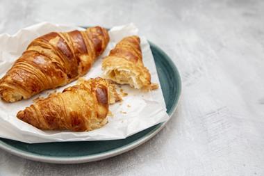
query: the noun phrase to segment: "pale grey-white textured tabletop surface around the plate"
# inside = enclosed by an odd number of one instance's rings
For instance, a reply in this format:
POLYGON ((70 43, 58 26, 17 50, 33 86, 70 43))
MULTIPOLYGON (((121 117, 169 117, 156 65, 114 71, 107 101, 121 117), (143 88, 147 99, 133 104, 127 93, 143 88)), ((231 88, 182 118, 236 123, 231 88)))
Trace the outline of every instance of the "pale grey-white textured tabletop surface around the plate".
POLYGON ((75 165, 0 150, 0 175, 264 175, 264 1, 0 1, 0 33, 134 22, 181 72, 172 120, 125 154, 75 165))

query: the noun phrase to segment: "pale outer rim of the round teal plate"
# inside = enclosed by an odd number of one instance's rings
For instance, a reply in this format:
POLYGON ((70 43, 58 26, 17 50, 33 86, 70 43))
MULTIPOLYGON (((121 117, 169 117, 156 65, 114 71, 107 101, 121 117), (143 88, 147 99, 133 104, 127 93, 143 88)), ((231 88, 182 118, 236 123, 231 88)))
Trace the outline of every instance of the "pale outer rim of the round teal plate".
POLYGON ((161 54, 163 54, 163 56, 165 56, 167 58, 167 61, 172 66, 172 69, 176 71, 175 72, 176 73, 176 77, 178 77, 178 79, 179 79, 179 94, 176 97, 175 103, 172 105, 172 110, 170 112, 168 112, 170 118, 167 121, 158 124, 158 126, 155 127, 154 129, 152 129, 151 131, 149 131, 148 134, 146 134, 142 138, 139 138, 138 140, 133 141, 132 143, 123 145, 122 147, 117 147, 117 148, 115 148, 113 150, 108 150, 106 152, 101 152, 99 154, 90 154, 90 155, 81 156, 81 157, 42 156, 40 154, 34 154, 34 153, 31 153, 31 152, 26 152, 24 150, 19 150, 16 147, 8 145, 8 144, 4 143, 1 140, 0 140, 0 148, 2 150, 5 150, 6 152, 9 152, 11 154, 15 154, 18 157, 22 157, 22 158, 25 158, 25 159, 30 159, 30 160, 33 160, 33 161, 41 161, 41 162, 45 162, 45 163, 87 163, 87 162, 92 162, 92 161, 99 161, 101 159, 107 159, 107 158, 110 158, 110 157, 115 157, 115 156, 117 156, 119 154, 122 154, 124 152, 128 152, 129 150, 133 150, 135 147, 138 147, 139 145, 142 145, 143 143, 149 141, 149 139, 154 137, 156 134, 158 134, 158 132, 161 129, 163 129, 163 127, 165 127, 167 122, 170 121, 170 119, 172 118, 172 115, 176 111, 176 107, 179 104, 179 99, 181 98, 181 77, 180 77, 180 74, 179 74, 179 70, 177 69, 176 65, 171 60, 171 58, 169 56, 167 56, 167 54, 162 49, 160 49, 160 47, 155 45, 153 42, 150 42, 149 40, 148 40, 148 42, 149 42, 149 45, 151 47, 155 47, 155 49, 157 49, 161 54))

